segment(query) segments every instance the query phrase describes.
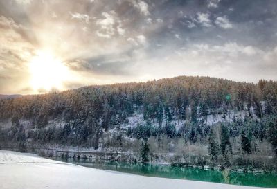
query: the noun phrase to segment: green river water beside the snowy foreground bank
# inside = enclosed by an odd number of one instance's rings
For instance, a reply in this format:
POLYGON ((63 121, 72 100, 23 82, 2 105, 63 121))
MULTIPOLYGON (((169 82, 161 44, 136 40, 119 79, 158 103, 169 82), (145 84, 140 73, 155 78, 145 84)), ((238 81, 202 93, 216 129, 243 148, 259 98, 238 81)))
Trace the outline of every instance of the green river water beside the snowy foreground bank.
MULTIPOLYGON (((172 179, 186 179, 193 181, 208 181, 215 183, 225 183, 222 172, 217 170, 204 170, 200 168, 181 168, 171 165, 160 164, 142 164, 111 161, 91 161, 89 159, 56 159, 66 161, 89 168, 98 168, 101 170, 112 170, 132 174, 140 174, 149 177, 164 177, 172 179)), ((277 174, 260 173, 230 173, 230 183, 242 186, 259 186, 268 188, 277 188, 277 174)))

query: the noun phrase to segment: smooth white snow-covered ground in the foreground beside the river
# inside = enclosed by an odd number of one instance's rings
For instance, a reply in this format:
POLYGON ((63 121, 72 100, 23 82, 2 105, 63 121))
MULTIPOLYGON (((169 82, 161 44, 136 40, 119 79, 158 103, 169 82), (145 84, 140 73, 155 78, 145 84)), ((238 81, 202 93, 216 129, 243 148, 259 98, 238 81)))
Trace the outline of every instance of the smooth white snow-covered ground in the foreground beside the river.
MULTIPOLYGON (((186 181, 143 177, 134 174, 121 174, 94 168, 84 168, 70 163, 44 159, 34 154, 0 150, 0 188, 93 188, 93 189, 132 189, 132 188, 243 188, 220 183, 186 181)), ((258 188, 255 188, 258 189, 258 188)))

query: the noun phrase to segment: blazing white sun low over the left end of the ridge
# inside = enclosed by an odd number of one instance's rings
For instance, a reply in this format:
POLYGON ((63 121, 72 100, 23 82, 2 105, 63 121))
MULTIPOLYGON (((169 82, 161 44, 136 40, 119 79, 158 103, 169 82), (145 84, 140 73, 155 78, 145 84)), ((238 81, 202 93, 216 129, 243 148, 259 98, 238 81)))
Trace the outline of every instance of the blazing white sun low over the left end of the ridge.
POLYGON ((37 51, 30 61, 30 86, 35 92, 64 89, 69 78, 69 69, 62 61, 48 51, 37 51))

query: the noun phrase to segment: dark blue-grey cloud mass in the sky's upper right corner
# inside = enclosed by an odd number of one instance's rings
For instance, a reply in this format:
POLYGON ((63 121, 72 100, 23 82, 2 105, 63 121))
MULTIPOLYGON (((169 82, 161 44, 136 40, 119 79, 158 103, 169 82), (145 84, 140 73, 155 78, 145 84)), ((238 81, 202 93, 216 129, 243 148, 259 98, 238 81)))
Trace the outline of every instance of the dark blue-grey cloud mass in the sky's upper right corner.
MULTIPOLYGON (((208 1, 167 1, 159 8, 159 17, 168 21, 159 33, 167 41, 174 31, 182 39, 191 42, 222 43, 237 41, 256 46, 274 46, 276 37, 276 1, 219 1, 217 8, 208 8, 208 1), (197 14, 208 15, 208 20, 199 20, 197 14), (231 30, 215 24, 218 17, 226 18, 233 25, 231 30), (192 25, 193 24, 193 25, 192 25), (191 28, 189 27, 191 26, 191 28), (205 27, 210 26, 210 27, 205 27), (220 35, 220 37, 218 37, 220 35)), ((153 10, 155 12, 155 10, 153 10)), ((157 11, 158 12, 158 11, 157 11)), ((165 22, 166 22, 165 21, 165 22)), ((173 37, 171 37, 173 38, 173 37)), ((186 43, 185 40, 182 42, 186 43)))

